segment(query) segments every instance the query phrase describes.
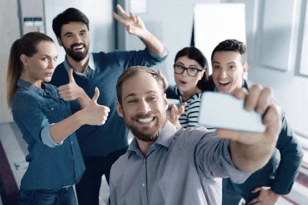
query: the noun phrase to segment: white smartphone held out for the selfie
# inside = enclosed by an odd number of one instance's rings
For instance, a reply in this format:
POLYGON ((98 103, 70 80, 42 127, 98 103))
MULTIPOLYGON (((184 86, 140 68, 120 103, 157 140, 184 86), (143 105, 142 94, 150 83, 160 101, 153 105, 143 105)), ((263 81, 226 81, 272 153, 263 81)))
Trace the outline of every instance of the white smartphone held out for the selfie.
POLYGON ((245 99, 219 92, 204 92, 198 122, 204 127, 262 133, 262 114, 244 108, 245 99))

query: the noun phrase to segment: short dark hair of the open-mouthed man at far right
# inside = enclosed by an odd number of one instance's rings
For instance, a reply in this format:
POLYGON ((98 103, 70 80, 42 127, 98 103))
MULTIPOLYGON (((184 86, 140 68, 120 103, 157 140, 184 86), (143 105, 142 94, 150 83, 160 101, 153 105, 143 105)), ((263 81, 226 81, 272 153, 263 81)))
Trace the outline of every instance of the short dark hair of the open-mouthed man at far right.
POLYGON ((236 51, 242 56, 242 64, 247 63, 247 49, 243 42, 236 39, 226 39, 219 43, 211 54, 211 61, 213 62, 213 57, 216 52, 219 51, 236 51))

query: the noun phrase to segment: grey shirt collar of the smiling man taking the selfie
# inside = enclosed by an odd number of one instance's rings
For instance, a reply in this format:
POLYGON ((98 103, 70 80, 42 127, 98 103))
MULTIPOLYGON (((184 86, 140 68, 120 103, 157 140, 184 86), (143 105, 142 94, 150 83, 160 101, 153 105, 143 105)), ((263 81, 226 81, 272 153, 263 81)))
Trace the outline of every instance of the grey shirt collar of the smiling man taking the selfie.
MULTIPOLYGON (((154 144, 159 144, 169 149, 172 141, 174 140, 174 136, 176 132, 177 132, 177 128, 174 125, 172 125, 171 122, 167 121, 163 128, 161 135, 158 136, 154 144)), ((134 137, 128 147, 128 151, 127 151, 128 158, 134 151, 136 152, 137 150, 139 150, 139 146, 138 146, 138 142, 136 138, 134 137)))

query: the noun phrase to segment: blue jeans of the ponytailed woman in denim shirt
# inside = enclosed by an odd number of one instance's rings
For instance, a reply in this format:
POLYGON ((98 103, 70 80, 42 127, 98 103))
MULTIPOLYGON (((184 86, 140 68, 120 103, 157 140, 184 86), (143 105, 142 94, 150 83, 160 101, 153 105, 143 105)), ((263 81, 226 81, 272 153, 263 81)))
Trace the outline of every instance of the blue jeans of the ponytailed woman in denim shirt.
POLYGON ((18 193, 20 205, 76 205, 73 187, 58 190, 23 190, 18 193))

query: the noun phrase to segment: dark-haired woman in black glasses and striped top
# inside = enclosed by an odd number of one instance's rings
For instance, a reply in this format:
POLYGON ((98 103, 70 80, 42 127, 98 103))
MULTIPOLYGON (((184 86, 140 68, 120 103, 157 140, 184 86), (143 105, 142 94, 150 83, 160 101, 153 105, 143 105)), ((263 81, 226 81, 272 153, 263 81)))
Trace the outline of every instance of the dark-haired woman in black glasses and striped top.
POLYGON ((164 79, 167 98, 180 100, 179 111, 175 105, 172 105, 168 113, 168 120, 176 127, 199 126, 201 96, 208 78, 207 67, 207 60, 199 49, 186 47, 180 50, 175 58, 176 85, 169 85, 166 77, 159 71, 164 79), (184 110, 181 115, 180 110, 184 110))

